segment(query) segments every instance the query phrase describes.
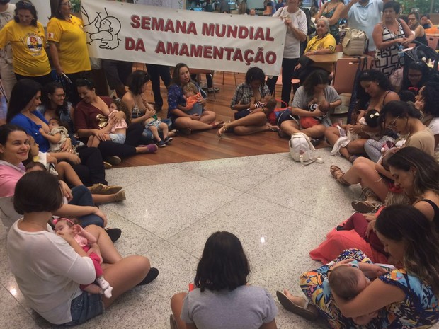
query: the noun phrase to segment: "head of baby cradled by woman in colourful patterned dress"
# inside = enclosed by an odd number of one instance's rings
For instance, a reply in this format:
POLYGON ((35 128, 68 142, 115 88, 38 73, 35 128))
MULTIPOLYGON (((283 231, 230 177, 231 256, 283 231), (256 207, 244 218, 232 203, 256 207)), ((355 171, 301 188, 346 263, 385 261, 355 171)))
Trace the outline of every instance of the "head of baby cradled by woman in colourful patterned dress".
POLYGON ((370 280, 357 267, 338 266, 331 270, 329 286, 343 299, 353 299, 370 284, 370 280))

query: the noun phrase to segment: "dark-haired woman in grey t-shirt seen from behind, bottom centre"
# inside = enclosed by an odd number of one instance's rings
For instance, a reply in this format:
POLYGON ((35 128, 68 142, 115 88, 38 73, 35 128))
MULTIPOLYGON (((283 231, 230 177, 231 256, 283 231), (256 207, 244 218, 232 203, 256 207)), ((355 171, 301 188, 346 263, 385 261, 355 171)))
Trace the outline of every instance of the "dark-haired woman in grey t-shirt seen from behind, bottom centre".
POLYGON ((171 299, 171 328, 277 328, 273 297, 248 284, 249 273, 239 238, 229 232, 213 233, 198 263, 196 288, 171 299))

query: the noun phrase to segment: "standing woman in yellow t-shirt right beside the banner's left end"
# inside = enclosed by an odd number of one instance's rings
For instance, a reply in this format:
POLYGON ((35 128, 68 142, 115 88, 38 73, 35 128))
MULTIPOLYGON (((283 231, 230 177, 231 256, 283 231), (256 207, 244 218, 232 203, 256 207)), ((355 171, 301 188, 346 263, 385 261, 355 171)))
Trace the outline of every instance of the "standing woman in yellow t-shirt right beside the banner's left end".
POLYGON ((84 23, 72 16, 69 0, 50 0, 50 11, 47 23, 50 54, 58 76, 66 74, 69 77, 67 93, 69 101, 76 105, 80 98, 74 83, 87 77, 91 70, 84 23))

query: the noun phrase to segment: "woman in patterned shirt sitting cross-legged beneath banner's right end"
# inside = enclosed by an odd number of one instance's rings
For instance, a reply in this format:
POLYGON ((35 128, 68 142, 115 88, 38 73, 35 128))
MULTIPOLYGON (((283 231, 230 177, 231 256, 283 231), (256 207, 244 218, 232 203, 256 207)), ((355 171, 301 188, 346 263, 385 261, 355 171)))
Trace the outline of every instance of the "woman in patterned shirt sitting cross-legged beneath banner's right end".
POLYGON ((275 109, 276 101, 270 95, 265 76, 258 67, 247 70, 246 81, 236 87, 230 104, 230 108, 237 112, 234 113, 232 121, 218 130, 219 137, 227 130, 237 135, 279 130, 267 120, 268 114, 275 109))

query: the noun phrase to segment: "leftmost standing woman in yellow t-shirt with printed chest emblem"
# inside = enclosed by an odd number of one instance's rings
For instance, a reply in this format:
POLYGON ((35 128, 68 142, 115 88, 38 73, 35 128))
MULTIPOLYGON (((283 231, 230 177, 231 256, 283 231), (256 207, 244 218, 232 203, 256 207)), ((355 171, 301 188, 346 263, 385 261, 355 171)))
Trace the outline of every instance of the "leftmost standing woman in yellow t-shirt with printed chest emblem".
POLYGON ((44 85, 52 81, 52 77, 45 51, 45 31, 37 19, 32 3, 18 1, 13 20, 0 30, 0 48, 11 44, 17 80, 28 78, 44 85))

